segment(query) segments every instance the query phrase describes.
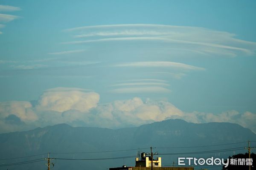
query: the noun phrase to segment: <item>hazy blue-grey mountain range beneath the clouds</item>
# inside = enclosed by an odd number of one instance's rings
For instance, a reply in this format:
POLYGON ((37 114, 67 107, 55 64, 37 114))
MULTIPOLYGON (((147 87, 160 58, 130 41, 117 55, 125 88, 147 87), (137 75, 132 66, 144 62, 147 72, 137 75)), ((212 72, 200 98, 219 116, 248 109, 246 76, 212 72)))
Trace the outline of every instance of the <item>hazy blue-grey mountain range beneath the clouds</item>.
MULTIPOLYGON (((169 119, 162 122, 142 125, 140 127, 115 130, 97 127, 71 127, 67 124, 59 124, 25 132, 0 134, 0 170, 47 169, 45 165, 46 161, 16 166, 1 166, 4 164, 45 158, 47 157, 47 152, 50 152, 51 158, 67 159, 101 159, 133 156, 126 159, 111 160, 79 161, 55 159, 51 161, 55 163, 55 170, 106 170, 109 167, 122 166, 122 164, 134 166, 135 156, 137 155, 139 147, 140 151, 150 152, 149 147, 151 146, 156 147, 153 151, 158 152, 158 156, 162 157, 163 165, 168 166, 168 164, 172 164, 173 161, 177 163, 177 157, 201 158, 215 156, 227 158, 236 153, 245 153, 247 150, 244 150, 243 147, 247 146, 247 140, 256 141, 256 134, 247 128, 232 123, 212 122, 194 124, 180 119, 169 119), (232 149, 226 152, 221 151, 229 148, 232 149), (195 152, 211 150, 219 151, 194 154, 195 152), (172 153, 174 155, 164 155, 164 153, 172 153), (7 159, 23 156, 32 157, 7 159)), ((254 146, 256 145, 256 143, 252 142, 252 146, 253 144, 254 146)), ((221 169, 221 167, 217 169, 221 169)))

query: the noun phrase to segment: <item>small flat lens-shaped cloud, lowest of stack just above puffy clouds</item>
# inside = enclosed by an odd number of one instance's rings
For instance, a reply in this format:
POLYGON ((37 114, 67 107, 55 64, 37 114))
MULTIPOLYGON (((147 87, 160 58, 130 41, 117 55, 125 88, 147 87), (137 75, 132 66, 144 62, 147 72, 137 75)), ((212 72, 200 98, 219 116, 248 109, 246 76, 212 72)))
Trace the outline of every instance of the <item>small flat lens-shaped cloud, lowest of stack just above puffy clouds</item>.
POLYGON ((171 91, 163 87, 134 87, 134 88, 116 88, 111 93, 170 93, 171 91))

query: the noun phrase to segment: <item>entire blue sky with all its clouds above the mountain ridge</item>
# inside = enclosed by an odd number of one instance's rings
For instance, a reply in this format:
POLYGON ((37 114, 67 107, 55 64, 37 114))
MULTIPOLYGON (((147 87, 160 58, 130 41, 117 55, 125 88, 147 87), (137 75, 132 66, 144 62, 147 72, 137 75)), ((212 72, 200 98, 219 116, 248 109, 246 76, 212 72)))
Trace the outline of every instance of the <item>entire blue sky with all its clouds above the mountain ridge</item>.
POLYGON ((256 133, 256 1, 0 0, 0 133, 166 119, 256 133))

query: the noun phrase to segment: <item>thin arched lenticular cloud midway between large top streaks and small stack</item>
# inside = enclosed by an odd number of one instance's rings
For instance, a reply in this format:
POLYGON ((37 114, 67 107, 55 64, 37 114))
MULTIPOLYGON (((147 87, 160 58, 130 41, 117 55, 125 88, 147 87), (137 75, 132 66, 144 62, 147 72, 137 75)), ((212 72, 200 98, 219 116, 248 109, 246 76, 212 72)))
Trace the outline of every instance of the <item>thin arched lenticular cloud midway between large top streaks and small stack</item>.
POLYGON ((193 65, 187 65, 180 62, 169 61, 151 61, 151 62, 127 62, 114 65, 116 67, 173 67, 182 68, 188 70, 204 70, 204 68, 195 67, 193 65))

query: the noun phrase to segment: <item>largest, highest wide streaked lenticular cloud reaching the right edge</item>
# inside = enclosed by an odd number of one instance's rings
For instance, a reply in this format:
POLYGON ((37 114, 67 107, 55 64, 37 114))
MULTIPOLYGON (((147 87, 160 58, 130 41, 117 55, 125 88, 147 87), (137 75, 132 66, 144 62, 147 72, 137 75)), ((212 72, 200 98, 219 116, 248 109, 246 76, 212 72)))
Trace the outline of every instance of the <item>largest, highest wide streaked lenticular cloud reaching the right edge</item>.
POLYGON ((254 54, 256 49, 256 42, 239 40, 235 38, 235 34, 200 27, 120 24, 84 26, 70 28, 65 31, 80 33, 73 37, 86 38, 87 40, 63 42, 64 44, 115 41, 157 41, 168 43, 172 47, 175 46, 176 48, 191 50, 203 55, 214 53, 232 57, 236 56, 238 52, 251 55, 254 54))

